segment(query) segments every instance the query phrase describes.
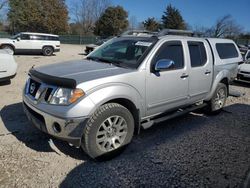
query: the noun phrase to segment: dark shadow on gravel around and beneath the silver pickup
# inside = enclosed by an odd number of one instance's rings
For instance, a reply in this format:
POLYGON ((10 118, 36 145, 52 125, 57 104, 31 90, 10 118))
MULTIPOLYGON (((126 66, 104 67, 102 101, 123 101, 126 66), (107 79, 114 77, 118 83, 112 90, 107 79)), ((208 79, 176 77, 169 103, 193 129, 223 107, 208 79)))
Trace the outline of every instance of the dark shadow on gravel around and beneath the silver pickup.
MULTIPOLYGON (((190 113, 143 130, 118 157, 95 162, 55 140, 81 159, 60 187, 239 187, 250 169, 250 106, 234 104, 217 116, 190 113)), ((50 136, 34 128, 22 104, 1 110, 5 127, 27 147, 52 152, 50 136)))

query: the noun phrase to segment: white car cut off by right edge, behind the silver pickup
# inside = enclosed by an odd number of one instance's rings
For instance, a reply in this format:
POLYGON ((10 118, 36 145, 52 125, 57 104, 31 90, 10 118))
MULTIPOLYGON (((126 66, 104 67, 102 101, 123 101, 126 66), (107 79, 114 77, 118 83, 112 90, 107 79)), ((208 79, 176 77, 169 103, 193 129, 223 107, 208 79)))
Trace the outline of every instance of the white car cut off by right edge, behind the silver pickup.
POLYGON ((243 57, 244 63, 239 66, 237 80, 250 82, 250 50, 243 57))

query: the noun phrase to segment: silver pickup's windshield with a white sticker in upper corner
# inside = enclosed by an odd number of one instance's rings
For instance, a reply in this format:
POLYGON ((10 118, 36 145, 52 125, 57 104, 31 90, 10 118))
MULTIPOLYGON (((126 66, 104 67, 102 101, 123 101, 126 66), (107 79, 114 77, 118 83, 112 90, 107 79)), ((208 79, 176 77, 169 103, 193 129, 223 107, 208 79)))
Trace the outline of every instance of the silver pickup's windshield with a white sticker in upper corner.
POLYGON ((92 52, 87 59, 137 68, 155 42, 155 38, 147 37, 114 38, 92 52))

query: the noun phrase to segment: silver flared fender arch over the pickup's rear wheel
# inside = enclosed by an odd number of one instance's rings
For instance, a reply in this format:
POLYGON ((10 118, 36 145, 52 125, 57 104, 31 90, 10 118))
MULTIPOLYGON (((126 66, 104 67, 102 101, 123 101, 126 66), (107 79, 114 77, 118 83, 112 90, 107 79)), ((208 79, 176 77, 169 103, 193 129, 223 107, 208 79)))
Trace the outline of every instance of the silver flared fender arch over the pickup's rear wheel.
POLYGON ((206 97, 206 101, 211 100, 211 98, 213 97, 215 90, 218 86, 218 84, 221 82, 221 80, 223 80, 224 78, 226 78, 227 80, 230 80, 230 72, 228 70, 222 70, 220 71, 216 77, 214 78, 211 90, 209 92, 209 94, 206 97))

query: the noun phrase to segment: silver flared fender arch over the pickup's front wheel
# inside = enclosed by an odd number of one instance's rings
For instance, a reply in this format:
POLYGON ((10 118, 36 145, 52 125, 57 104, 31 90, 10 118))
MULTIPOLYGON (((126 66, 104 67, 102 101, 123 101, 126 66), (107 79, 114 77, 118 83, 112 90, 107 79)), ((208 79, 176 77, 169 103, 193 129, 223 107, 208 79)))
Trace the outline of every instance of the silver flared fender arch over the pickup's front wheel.
POLYGON ((101 105, 115 99, 130 100, 136 108, 140 110, 141 115, 145 114, 143 95, 130 85, 122 83, 107 85, 98 90, 95 89, 95 91, 92 91, 88 97, 95 104, 95 108, 91 110, 90 115, 101 105))

